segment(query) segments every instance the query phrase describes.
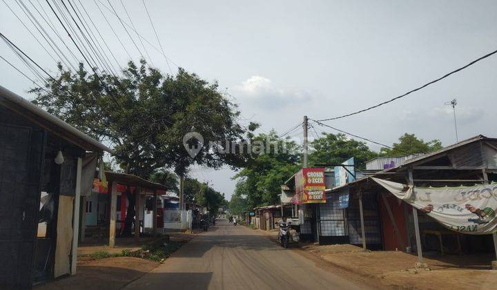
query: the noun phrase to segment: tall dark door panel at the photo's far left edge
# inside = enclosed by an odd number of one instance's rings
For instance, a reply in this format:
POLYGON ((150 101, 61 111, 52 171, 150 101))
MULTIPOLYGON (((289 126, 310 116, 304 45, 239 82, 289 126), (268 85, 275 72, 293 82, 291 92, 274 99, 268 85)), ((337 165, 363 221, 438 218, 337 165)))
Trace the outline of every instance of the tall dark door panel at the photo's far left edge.
POLYGON ((45 132, 0 125, 0 289, 32 287, 45 132))

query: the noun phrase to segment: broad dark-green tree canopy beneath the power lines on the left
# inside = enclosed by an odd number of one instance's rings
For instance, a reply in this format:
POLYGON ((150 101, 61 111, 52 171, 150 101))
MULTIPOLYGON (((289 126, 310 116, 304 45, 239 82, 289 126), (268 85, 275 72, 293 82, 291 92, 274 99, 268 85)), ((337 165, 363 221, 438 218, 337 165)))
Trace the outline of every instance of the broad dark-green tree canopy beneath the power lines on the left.
MULTIPOLYGON (((217 168, 240 166, 243 155, 208 151, 208 142, 239 141, 245 131, 238 124, 239 112, 220 92, 194 73, 179 68, 176 75, 163 75, 146 61, 133 61, 114 77, 88 73, 83 64, 72 73, 59 66, 55 80, 45 89, 34 88, 33 101, 79 130, 112 144, 125 173, 148 178, 157 168, 172 168, 185 176, 188 167, 199 164, 217 168), (182 142, 196 131, 204 146, 192 158, 182 142)), ((195 140, 193 140, 195 141, 195 140)))

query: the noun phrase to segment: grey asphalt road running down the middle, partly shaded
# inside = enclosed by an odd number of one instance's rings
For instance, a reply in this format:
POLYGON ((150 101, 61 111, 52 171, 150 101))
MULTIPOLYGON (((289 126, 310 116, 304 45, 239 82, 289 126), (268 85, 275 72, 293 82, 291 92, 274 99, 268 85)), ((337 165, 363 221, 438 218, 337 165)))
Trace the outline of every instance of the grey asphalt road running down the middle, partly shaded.
POLYGON ((125 289, 364 289, 266 236, 218 220, 125 289))

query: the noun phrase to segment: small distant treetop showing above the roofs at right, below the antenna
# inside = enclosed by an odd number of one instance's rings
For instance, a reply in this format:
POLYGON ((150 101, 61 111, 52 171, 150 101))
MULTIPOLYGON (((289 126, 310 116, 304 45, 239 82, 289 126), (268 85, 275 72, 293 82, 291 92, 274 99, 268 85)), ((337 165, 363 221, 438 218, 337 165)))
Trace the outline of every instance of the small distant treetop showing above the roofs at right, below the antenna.
POLYGON ((398 143, 393 143, 392 148, 381 148, 380 155, 388 157, 402 156, 416 153, 428 153, 441 148, 442 142, 438 139, 425 142, 414 134, 405 133, 400 136, 398 143))

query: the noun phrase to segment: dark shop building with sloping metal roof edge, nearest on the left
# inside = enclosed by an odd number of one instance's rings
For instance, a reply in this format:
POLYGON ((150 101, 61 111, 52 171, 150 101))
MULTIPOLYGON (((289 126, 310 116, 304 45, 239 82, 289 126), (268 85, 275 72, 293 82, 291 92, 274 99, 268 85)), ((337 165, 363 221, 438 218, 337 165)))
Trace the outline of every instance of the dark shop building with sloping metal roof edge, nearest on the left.
POLYGON ((100 144, 0 86, 0 289, 75 274, 100 144))

